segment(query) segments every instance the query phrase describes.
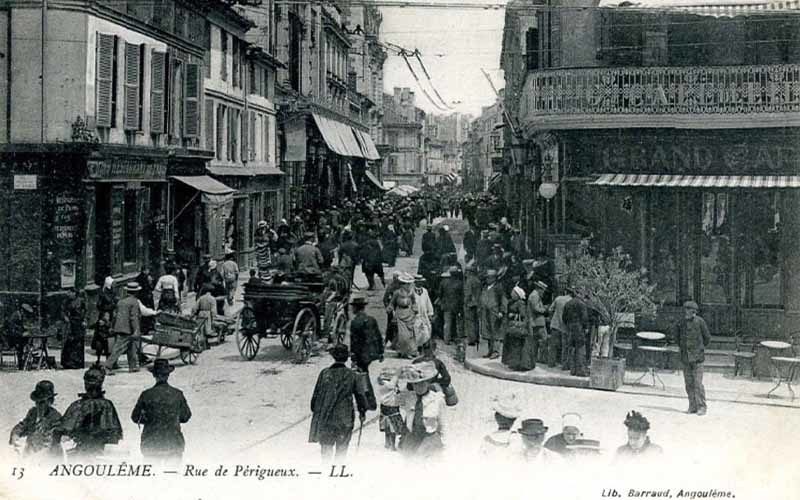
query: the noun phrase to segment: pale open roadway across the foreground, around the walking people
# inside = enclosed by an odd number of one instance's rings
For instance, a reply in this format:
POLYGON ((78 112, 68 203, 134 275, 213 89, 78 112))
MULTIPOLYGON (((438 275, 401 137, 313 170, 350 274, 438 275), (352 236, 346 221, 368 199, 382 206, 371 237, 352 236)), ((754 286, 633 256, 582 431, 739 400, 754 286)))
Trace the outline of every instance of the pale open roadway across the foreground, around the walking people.
MULTIPOLYGON (((458 226, 457 221, 450 223, 458 226)), ((396 269, 415 272, 416 263, 416 258, 401 257, 396 269)), ((386 270, 387 278, 392 270, 386 270)), ((359 271, 356 285, 362 290, 366 288, 366 280, 359 271)), ((370 300, 368 312, 378 318, 383 328, 383 289, 378 286, 373 291, 356 293, 366 294, 370 300)), ((625 443, 626 431, 622 422, 630 410, 640 411, 650 420, 650 436, 666 452, 665 467, 666 464, 671 464, 669 467, 687 466, 701 472, 701 477, 706 474, 713 477, 719 471, 727 474, 737 471, 743 474, 742 485, 752 485, 754 483, 750 481, 744 482, 748 474, 781 470, 786 459, 800 447, 800 437, 793 431, 797 409, 712 400, 708 415, 697 417, 684 413, 685 399, 500 380, 467 371, 454 361, 452 353, 440 350, 439 354, 452 374, 460 399, 457 406, 447 410, 446 456, 451 458, 451 465, 470 467, 472 459, 476 459, 473 465, 479 464, 477 453, 482 437, 495 427, 490 401, 493 396, 509 391, 522 398, 523 416, 541 418, 550 427, 550 433, 560 431, 563 413, 583 415, 581 430, 585 437, 600 441, 604 450, 602 463, 610 463, 616 447, 625 443), (758 456, 762 464, 758 471, 747 470, 746 465, 753 456, 758 456)), ((230 339, 202 353, 194 366, 178 363, 170 382, 184 391, 192 409, 192 419, 183 427, 187 442, 184 461, 194 463, 194 460, 199 460, 199 463, 209 463, 209 466, 247 463, 282 467, 310 464, 316 467, 318 445, 307 442, 311 417, 309 402, 317 374, 330 363, 330 357, 323 353, 312 357, 306 364, 296 365, 277 339, 262 341, 253 361, 243 360, 235 340, 230 339)), ((397 359, 392 352, 387 353, 382 364, 373 364, 373 383, 382 366, 401 366, 404 363, 407 361, 397 359)), ((82 391, 81 375, 82 371, 74 370, 6 374, 0 387, 0 400, 5 402, 5 409, 0 412, 0 428, 9 429, 24 416, 29 406, 27 393, 36 381, 48 378, 55 383, 58 393, 56 407, 63 410, 82 391)), ((110 456, 127 461, 139 460, 140 431, 130 421, 130 413, 139 392, 152 382, 146 370, 136 374, 120 373, 106 379, 106 397, 116 405, 124 427, 123 441, 107 448, 110 456)), ((709 390, 713 391, 713 387, 709 390)), ((358 467, 372 471, 371 475, 375 471, 377 474, 381 471, 389 473, 402 464, 397 453, 384 449, 383 434, 378 430, 375 416, 375 412, 368 414, 360 445, 357 444, 357 434, 354 435, 347 462, 356 471, 359 471, 358 467)), ((3 461, 15 463, 15 457, 9 453, 10 448, 3 450, 3 461)), ((598 470, 604 471, 602 474, 609 478, 617 477, 620 472, 613 466, 598 470)), ((669 482, 669 470, 659 471, 651 480, 660 478, 666 481, 665 484, 674 485, 674 481, 669 482)), ((460 487, 474 483, 469 476, 463 479, 466 482, 460 487)), ((781 480, 786 481, 787 487, 797 486, 795 476, 781 480)), ((480 481, 475 484, 480 484, 480 481)), ((609 484, 619 483, 611 480, 609 484)), ((732 488, 735 485, 726 482, 721 486, 732 488)), ((748 497, 744 491, 739 493, 742 498, 748 497)))

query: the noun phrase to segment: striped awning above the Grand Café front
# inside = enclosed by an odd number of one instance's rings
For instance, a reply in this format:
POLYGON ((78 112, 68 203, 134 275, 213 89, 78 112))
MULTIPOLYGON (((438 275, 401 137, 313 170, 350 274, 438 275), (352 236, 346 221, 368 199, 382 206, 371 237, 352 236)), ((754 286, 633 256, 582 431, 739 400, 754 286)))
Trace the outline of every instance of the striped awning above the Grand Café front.
POLYGON ((800 188, 798 175, 602 174, 595 186, 672 188, 800 188))

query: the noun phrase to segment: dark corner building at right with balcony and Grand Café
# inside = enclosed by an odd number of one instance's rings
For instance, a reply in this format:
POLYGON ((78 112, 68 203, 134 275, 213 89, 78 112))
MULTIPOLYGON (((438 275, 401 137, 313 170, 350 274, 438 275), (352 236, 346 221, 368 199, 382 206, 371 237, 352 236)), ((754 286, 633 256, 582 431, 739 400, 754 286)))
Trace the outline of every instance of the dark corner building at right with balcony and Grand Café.
POLYGON ((534 4, 507 8, 493 169, 531 248, 621 246, 661 327, 693 299, 716 335, 800 329, 800 3, 534 4))

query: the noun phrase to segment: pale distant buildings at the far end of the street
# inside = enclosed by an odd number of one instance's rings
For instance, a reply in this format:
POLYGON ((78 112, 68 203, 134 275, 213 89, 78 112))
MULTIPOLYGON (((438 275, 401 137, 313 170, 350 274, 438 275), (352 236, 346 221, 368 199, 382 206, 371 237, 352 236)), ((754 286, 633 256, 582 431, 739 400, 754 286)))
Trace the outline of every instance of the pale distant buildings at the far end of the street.
POLYGON ((428 114, 408 88, 384 94, 383 103, 384 182, 414 187, 459 182, 472 117, 428 114))

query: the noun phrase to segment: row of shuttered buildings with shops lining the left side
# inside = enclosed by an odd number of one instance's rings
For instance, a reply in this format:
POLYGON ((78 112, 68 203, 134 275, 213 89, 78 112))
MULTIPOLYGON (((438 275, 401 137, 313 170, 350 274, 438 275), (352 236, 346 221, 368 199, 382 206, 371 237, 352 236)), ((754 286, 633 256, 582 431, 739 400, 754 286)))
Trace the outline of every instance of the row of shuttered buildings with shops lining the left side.
POLYGON ((381 190, 377 8, 0 4, 0 303, 47 323, 166 259, 253 263, 277 223, 381 190))

